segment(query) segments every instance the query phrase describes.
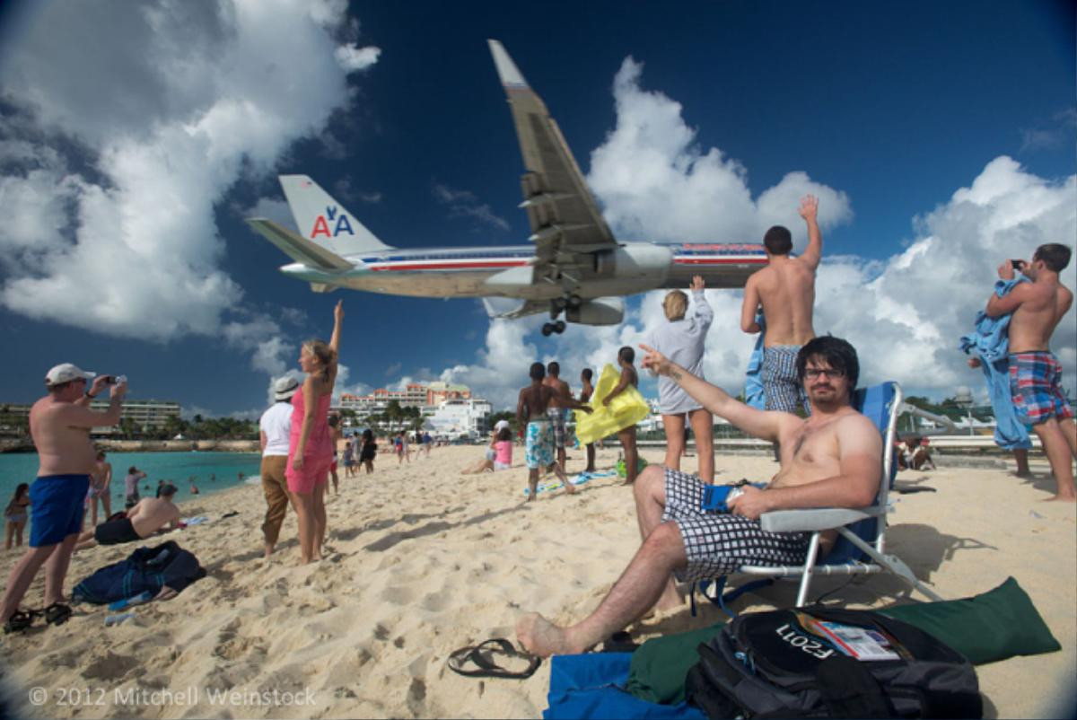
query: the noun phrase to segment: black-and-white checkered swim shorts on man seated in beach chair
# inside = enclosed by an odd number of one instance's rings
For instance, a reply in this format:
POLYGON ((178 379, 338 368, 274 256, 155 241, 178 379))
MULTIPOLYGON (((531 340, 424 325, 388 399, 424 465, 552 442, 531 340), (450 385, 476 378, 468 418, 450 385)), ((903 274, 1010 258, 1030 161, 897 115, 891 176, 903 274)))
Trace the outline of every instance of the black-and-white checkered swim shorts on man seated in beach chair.
POLYGON ((702 510, 705 487, 696 475, 666 469, 662 522, 676 523, 688 556, 677 580, 716 578, 742 565, 803 565, 808 534, 767 532, 757 520, 702 510))

